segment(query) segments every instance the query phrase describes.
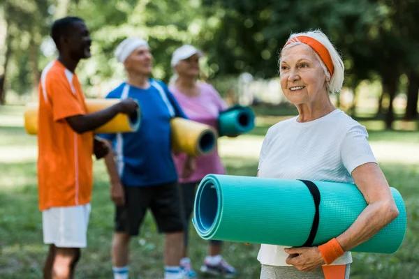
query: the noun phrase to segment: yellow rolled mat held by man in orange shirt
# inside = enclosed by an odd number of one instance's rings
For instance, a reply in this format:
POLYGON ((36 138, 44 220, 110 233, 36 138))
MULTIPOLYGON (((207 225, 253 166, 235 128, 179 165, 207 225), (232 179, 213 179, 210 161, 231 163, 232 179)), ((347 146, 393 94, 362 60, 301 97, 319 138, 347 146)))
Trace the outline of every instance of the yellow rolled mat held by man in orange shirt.
MULTIPOLYGON (((87 112, 98 112, 107 107, 119 103, 121 99, 86 99, 87 112)), ((38 133, 38 103, 29 103, 24 110, 24 128, 29 135, 38 133)), ((105 133, 129 133, 135 132, 140 128, 141 110, 138 107, 135 114, 117 114, 108 123, 94 130, 95 134, 105 133)))

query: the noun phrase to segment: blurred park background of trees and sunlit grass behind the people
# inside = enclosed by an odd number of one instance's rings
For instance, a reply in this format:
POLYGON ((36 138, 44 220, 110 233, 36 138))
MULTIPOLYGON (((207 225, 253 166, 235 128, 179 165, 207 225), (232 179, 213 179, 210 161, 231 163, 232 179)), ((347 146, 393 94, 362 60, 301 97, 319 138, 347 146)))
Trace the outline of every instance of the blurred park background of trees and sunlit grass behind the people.
MULTIPOLYGON (((360 121, 390 186, 402 193, 408 227, 393 255, 353 253, 351 278, 419 278, 419 1, 417 0, 1 0, 0 1, 0 278, 41 278, 36 137, 24 132, 24 105, 37 100, 43 67, 57 57, 52 22, 82 17, 93 40, 77 74, 89 98, 124 80, 112 55, 127 36, 148 40, 152 76, 169 82, 170 57, 184 43, 205 52, 201 80, 230 104, 250 105, 256 128, 219 149, 228 174, 255 176, 267 128, 297 111, 281 93, 277 59, 291 32, 321 29, 344 60, 344 89, 331 96, 360 121)), ((111 278, 113 206, 103 161, 94 163, 88 248, 76 278, 111 278)), ((385 245, 385 243, 383 243, 385 245)), ((226 243, 237 278, 258 278, 259 246, 226 243)), ((191 228, 190 257, 199 268, 206 243, 191 228)), ((160 278, 163 236, 147 216, 131 243, 131 278, 160 278)))

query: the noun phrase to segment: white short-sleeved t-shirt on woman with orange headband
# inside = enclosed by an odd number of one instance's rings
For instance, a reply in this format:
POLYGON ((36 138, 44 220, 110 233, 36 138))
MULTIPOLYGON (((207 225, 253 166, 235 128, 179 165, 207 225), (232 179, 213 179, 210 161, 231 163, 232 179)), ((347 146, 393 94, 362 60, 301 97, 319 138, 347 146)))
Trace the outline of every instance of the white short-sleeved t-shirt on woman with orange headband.
MULTIPOLYGON (((300 123, 295 116, 269 130, 260 150, 259 177, 354 183, 356 167, 374 162, 364 126, 341 110, 300 123)), ((287 266, 284 246, 262 244, 261 264, 287 266)), ((351 252, 333 264, 349 264, 351 252)))

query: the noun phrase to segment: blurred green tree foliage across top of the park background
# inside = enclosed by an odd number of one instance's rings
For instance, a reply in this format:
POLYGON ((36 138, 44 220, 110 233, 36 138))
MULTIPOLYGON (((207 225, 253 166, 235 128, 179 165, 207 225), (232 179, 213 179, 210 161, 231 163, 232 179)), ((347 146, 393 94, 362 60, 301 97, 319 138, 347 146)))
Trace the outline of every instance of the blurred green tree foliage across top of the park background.
MULTIPOLYGON (((346 86, 379 77, 390 100, 406 91, 411 104, 406 117, 417 116, 416 0, 5 0, 0 7, 6 24, 0 63, 7 68, 0 77, 15 92, 36 88, 39 71, 56 55, 50 25, 70 14, 84 18, 94 40, 94 56, 79 68, 88 93, 107 91, 108 81, 124 78, 113 51, 127 36, 149 41, 153 75, 168 82, 170 56, 184 43, 207 54, 204 77, 248 72, 269 78, 277 76, 279 51, 292 32, 321 29, 342 54, 346 86), (406 86, 400 86, 402 75, 408 77, 406 86)), ((387 118, 390 128, 391 105, 387 118)))

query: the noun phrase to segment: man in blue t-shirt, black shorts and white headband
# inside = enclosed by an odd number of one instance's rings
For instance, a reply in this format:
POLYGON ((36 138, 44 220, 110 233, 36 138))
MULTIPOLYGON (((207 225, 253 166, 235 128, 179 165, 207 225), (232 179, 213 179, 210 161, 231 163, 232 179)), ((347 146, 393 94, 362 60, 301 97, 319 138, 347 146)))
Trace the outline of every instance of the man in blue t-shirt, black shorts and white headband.
MULTIPOLYGON (((128 80, 106 98, 137 100, 141 123, 135 133, 101 135, 115 152, 105 157, 110 196, 115 203, 114 278, 128 278, 129 243, 132 236, 138 236, 147 209, 152 211, 159 232, 166 235, 164 278, 188 278, 179 266, 184 224, 170 146, 170 119, 186 116, 166 84, 149 77, 153 56, 145 40, 126 38, 115 56, 124 64, 128 80)), ((186 168, 193 167, 193 160, 189 163, 186 168)))

